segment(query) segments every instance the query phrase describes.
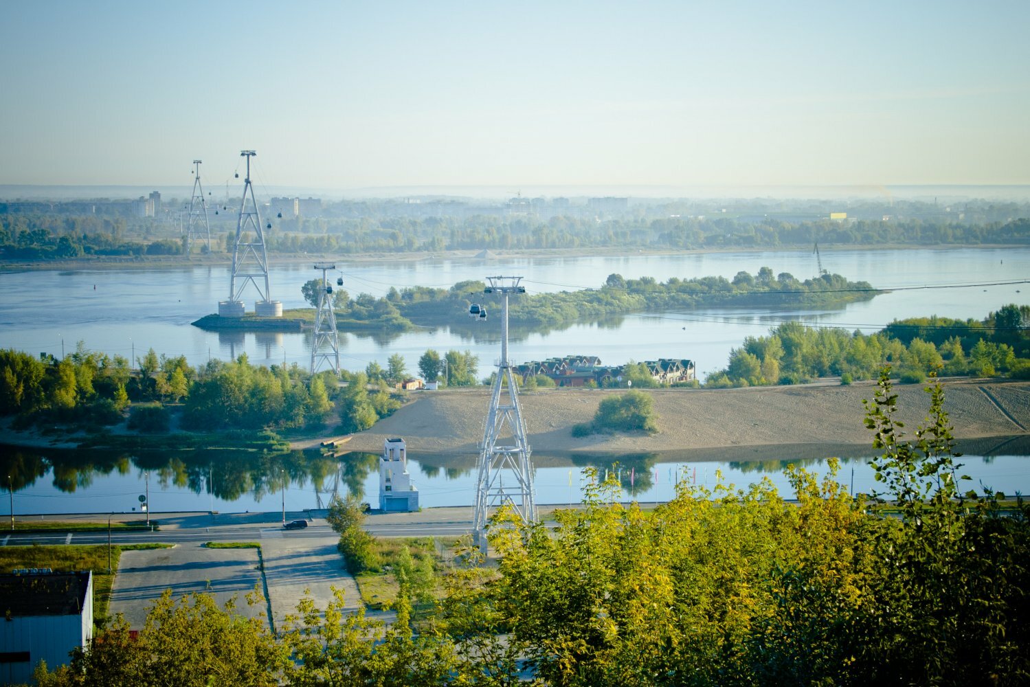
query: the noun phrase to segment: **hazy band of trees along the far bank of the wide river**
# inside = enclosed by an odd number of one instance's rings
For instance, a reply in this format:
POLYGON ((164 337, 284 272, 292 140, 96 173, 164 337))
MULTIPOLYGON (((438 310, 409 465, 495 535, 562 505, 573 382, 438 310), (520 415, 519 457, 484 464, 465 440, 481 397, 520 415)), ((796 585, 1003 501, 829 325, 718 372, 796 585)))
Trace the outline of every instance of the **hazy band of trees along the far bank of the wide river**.
MULTIPOLYGON (((232 252, 235 230, 212 227, 213 252, 232 252)), ((248 239, 249 240, 249 239, 248 239)), ((701 250, 830 245, 980 245, 1030 242, 1026 217, 983 222, 948 219, 788 220, 733 216, 549 219, 472 217, 359 217, 277 220, 265 232, 273 254, 374 253, 549 248, 701 250)), ((0 214, 0 257, 65 260, 80 256, 177 255, 180 229, 150 219, 96 215, 0 214)))

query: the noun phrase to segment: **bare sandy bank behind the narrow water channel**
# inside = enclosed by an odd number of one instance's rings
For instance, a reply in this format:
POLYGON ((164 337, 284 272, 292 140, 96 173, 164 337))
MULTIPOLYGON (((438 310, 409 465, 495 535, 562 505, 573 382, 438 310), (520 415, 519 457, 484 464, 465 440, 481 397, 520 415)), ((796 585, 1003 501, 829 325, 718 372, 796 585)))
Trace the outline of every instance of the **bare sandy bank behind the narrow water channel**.
MULTIPOLYGON (((1030 382, 946 381, 946 409, 960 439, 1028 435, 1030 382)), ((572 436, 600 400, 618 390, 549 389, 520 396, 534 452, 667 452, 776 445, 871 443, 863 425, 863 399, 872 382, 851 386, 802 385, 746 389, 653 389, 657 434, 572 436)), ((895 386, 899 418, 915 430, 929 408, 918 384, 895 386)), ((371 430, 347 450, 379 452, 387 437, 403 437, 411 451, 476 453, 489 405, 485 387, 421 391, 414 402, 371 430)), ((739 452, 739 451, 734 451, 739 452)))

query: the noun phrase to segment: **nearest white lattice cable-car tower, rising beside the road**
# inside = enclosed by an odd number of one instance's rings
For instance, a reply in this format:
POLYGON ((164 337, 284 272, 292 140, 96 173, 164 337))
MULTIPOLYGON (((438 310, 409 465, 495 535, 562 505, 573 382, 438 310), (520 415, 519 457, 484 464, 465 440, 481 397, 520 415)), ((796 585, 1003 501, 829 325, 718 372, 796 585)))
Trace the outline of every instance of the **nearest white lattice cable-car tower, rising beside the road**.
POLYGON ((522 277, 487 277, 485 294, 503 298, 501 310, 501 359, 486 413, 486 427, 479 454, 476 512, 473 518, 476 543, 486 551, 486 524, 490 510, 509 504, 523 522, 537 520, 537 502, 529 465, 529 442, 518 405, 518 386, 508 359, 508 297, 524 294, 522 277), (507 483, 506 483, 507 479, 507 483))

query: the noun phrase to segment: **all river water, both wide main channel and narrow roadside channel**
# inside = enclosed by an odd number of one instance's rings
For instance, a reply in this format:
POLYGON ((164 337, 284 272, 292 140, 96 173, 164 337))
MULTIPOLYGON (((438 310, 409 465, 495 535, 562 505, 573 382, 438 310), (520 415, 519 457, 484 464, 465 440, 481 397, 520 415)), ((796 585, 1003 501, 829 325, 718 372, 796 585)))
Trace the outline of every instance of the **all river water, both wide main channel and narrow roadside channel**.
MULTIPOLYGON (((878 288, 894 289, 871 301, 851 303, 835 310, 695 310, 634 313, 606 322, 582 323, 547 334, 533 334, 511 343, 518 363, 566 354, 600 356, 604 364, 630 359, 687 357, 699 373, 726 365, 730 348, 747 336, 760 336, 781 321, 843 327, 872 332, 895 318, 937 314, 983 318, 1007 303, 1030 304, 1026 284, 994 282, 1030 276, 1028 248, 827 250, 823 267, 850 280, 864 280, 878 288)), ((804 279, 817 273, 816 256, 808 250, 633 254, 627 256, 564 257, 446 257, 424 260, 338 261, 344 288, 351 296, 376 296, 390 286, 446 287, 464 279, 487 275, 521 275, 528 291, 554 291, 599 286, 609 274, 627 278, 650 275, 658 280, 721 275, 732 278, 741 270, 752 274, 769 267, 804 279)), ((310 336, 305 334, 207 333, 190 322, 216 311, 229 289, 229 266, 175 269, 103 269, 69 271, 10 271, 0 274, 0 347, 38 354, 70 353, 76 342, 88 349, 126 357, 148 348, 166 355, 185 355, 199 365, 209 357, 230 358, 245 352, 251 362, 296 363, 307 367, 310 336)), ((301 284, 316 276, 311 263, 275 265, 271 269, 273 298, 286 308, 304 307, 301 284)), ((249 297, 252 302, 252 296, 249 297)), ((386 358, 402 353, 409 370, 427 348, 471 349, 480 359, 480 376, 499 356, 499 324, 488 320, 479 334, 452 333, 446 327, 390 337, 346 335, 341 342, 342 365, 364 369, 372 360, 386 367, 386 358)), ((149 488, 151 510, 266 510, 280 502, 288 510, 317 508, 334 490, 353 490, 375 501, 378 493, 374 457, 341 460, 291 453, 275 466, 241 465, 249 458, 192 456, 188 459, 156 454, 96 456, 82 452, 59 455, 50 450, 0 446, 13 472, 14 512, 70 513, 131 511, 139 494, 149 488), (234 462, 237 461, 237 462, 234 462), (281 465, 280 465, 281 463, 281 465), (205 468, 205 465, 208 467, 205 468), (219 477, 219 468, 221 474, 219 477), (276 475, 279 475, 276 477, 276 475), (18 479, 14 479, 14 478, 18 479)), ((963 457, 973 485, 983 481, 1008 493, 1030 488, 1025 451, 1004 449, 963 457)), ((565 503, 580 496, 583 458, 535 456, 538 502, 565 503), (570 484, 572 482, 572 484, 570 484)), ((412 456, 411 472, 423 506, 471 505, 475 485, 472 465, 450 462, 446 456, 412 456)), ((872 488, 868 454, 846 458, 840 481, 856 491, 872 488), (854 477, 852 477, 854 469, 854 477)), ((610 458, 593 463, 598 470, 610 458)), ((788 488, 782 465, 747 461, 708 462, 696 457, 621 456, 620 475, 626 497, 664 501, 682 478, 712 486, 715 471, 728 481, 748 484, 769 476, 788 488), (627 468, 628 467, 628 468, 627 468), (625 473, 629 470, 628 475, 625 473)), ((589 461, 588 461, 589 462, 589 461)), ((810 463, 824 472, 824 461, 810 463)), ((3 475, 0 475, 3 479, 3 475)), ((4 485, 6 486, 6 485, 4 485)), ((7 501, 7 500, 5 500, 7 501)), ((0 506, 3 508, 4 504, 0 506)))

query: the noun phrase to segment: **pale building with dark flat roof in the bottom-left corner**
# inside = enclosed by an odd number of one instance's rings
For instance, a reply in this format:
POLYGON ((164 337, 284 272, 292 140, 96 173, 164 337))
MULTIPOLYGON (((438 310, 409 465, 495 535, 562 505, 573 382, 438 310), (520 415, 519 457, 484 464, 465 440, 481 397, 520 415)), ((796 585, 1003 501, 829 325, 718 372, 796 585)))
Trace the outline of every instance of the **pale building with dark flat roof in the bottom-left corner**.
POLYGON ((0 684, 31 682, 39 661, 65 665, 93 639, 93 573, 0 575, 0 684))

